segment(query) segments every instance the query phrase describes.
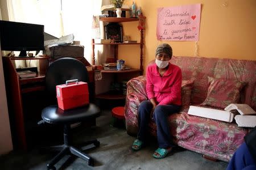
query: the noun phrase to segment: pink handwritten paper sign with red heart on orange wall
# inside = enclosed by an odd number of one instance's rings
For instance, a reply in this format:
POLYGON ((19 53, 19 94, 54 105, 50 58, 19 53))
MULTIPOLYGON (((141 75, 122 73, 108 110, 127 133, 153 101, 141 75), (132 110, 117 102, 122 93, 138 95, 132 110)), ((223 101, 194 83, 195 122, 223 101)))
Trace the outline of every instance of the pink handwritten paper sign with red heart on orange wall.
POLYGON ((156 36, 163 41, 198 41, 201 4, 158 8, 156 36))

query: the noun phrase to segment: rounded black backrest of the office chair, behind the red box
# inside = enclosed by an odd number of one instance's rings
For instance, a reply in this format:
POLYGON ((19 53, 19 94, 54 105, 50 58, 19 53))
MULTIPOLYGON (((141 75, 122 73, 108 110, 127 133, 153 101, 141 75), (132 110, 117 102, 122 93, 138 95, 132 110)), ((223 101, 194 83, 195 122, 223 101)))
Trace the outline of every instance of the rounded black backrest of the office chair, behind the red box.
POLYGON ((75 58, 60 58, 49 65, 46 73, 46 90, 51 97, 56 98, 56 85, 64 84, 66 80, 78 79, 88 82, 88 72, 85 65, 75 58))

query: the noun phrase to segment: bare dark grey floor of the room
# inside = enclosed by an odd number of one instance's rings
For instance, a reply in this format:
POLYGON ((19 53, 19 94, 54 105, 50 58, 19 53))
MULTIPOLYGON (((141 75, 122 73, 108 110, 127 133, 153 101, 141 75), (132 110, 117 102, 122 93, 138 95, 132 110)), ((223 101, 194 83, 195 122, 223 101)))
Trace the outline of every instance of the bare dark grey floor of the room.
MULTIPOLYGON (((97 127, 75 131, 76 142, 97 138, 101 145, 85 152, 95 159, 94 167, 89 167, 80 158, 66 156, 55 165, 57 169, 225 169, 227 163, 212 162, 196 152, 176 147, 164 159, 154 159, 152 153, 157 148, 154 139, 140 151, 131 150, 134 137, 125 129, 110 126, 110 111, 103 111, 97 118, 97 127)), ((56 152, 11 152, 0 157, 1 169, 46 169, 46 164, 56 152)))

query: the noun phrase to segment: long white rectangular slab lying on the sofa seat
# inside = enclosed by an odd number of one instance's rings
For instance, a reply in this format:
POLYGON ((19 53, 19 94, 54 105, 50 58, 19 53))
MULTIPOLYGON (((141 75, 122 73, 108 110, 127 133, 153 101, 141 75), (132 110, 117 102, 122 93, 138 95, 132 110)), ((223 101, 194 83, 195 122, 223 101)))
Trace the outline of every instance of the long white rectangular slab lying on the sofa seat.
POLYGON ((228 111, 221 111, 218 109, 210 109, 203 107, 196 107, 191 105, 188 109, 188 114, 206 118, 212 118, 214 120, 220 120, 225 122, 232 122, 234 114, 228 111))

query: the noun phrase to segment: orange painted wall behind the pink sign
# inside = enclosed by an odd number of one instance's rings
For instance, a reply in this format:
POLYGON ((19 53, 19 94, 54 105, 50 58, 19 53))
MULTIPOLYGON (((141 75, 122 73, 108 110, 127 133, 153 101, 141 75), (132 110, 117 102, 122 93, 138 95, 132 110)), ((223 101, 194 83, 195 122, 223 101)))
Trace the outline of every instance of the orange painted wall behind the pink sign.
MULTIPOLYGON (((143 15, 147 17, 144 32, 144 69, 145 65, 155 58, 155 48, 161 43, 156 39, 157 8, 196 3, 201 3, 198 56, 256 60, 255 0, 137 0, 134 2, 137 7, 141 7, 143 15)), ((122 23, 122 25, 125 35, 131 36, 132 40, 140 40, 138 22, 122 23)), ((172 46, 174 56, 195 56, 195 41, 165 42, 172 46)), ((118 53, 119 58, 125 59, 127 65, 139 67, 139 46, 120 45, 118 53)))

